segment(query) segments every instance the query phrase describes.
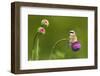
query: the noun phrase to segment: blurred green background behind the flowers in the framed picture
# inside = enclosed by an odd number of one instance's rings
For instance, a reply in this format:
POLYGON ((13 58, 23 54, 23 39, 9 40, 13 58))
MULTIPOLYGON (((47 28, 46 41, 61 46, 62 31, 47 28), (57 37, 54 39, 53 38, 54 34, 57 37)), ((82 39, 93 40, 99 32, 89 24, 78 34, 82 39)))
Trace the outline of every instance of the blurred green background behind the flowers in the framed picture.
POLYGON ((49 60, 52 47, 56 41, 67 38, 69 31, 74 30, 81 43, 81 49, 72 51, 68 41, 62 41, 53 50, 54 59, 77 59, 88 57, 88 18, 74 16, 28 15, 28 60, 32 60, 33 36, 41 26, 41 20, 47 19, 49 27, 46 34, 39 37, 39 60, 49 60), (58 51, 58 52, 57 52, 58 51), (58 56, 57 56, 58 55, 58 56))

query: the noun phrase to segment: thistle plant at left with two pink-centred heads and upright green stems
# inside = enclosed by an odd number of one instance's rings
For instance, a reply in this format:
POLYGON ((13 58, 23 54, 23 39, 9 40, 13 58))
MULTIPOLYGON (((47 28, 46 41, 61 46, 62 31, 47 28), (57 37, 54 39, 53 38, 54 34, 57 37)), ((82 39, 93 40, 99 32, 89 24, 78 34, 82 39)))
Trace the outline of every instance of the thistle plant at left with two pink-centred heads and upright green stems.
POLYGON ((39 60, 39 36, 44 35, 46 33, 46 28, 49 25, 49 21, 47 19, 43 19, 41 21, 41 26, 38 27, 36 33, 33 37, 33 49, 32 49, 32 59, 39 60), (36 47, 35 47, 36 44, 36 47))

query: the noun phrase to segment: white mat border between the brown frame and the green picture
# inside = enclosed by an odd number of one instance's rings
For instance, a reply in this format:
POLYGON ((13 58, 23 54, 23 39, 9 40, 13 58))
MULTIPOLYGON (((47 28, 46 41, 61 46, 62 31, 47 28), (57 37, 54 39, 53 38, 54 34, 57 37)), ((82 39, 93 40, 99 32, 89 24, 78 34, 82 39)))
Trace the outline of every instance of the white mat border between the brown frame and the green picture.
POLYGON ((42 7, 20 8, 20 69, 44 69, 94 65, 94 11, 42 7), (88 17, 88 58, 28 61, 28 14, 88 17))

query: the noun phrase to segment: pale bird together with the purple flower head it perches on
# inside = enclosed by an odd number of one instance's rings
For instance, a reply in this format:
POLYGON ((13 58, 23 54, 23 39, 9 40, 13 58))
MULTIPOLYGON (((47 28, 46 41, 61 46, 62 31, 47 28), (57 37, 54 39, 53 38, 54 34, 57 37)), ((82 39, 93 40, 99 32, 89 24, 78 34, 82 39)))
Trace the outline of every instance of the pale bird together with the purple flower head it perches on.
POLYGON ((71 30, 69 32, 69 43, 70 47, 72 48, 73 51, 78 51, 81 48, 81 44, 77 39, 76 33, 74 30, 71 30))

